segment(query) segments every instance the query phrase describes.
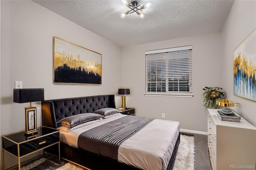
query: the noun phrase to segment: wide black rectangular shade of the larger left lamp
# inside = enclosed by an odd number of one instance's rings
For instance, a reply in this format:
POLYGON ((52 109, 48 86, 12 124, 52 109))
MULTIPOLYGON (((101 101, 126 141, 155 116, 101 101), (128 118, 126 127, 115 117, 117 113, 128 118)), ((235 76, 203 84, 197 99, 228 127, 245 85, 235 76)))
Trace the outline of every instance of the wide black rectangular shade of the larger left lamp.
POLYGON ((13 102, 44 101, 44 89, 13 89, 13 102))

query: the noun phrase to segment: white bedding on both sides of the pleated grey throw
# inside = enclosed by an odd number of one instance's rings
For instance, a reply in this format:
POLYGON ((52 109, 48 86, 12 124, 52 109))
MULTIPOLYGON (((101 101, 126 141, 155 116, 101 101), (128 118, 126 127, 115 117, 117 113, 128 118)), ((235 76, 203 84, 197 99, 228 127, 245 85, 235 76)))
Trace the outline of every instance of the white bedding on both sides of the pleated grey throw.
MULTIPOLYGON (((82 132, 124 116, 115 115, 86 126, 59 127, 60 141, 77 148, 82 132)), ((143 170, 166 170, 179 132, 179 122, 155 119, 119 146, 118 161, 143 170)))

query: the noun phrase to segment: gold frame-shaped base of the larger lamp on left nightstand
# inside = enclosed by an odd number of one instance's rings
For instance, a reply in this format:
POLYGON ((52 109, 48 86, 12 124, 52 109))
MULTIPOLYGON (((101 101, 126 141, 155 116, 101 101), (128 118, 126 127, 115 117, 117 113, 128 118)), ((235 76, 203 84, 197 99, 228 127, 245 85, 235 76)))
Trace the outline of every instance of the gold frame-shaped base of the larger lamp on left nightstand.
POLYGON ((36 107, 25 107, 26 135, 37 134, 36 107))

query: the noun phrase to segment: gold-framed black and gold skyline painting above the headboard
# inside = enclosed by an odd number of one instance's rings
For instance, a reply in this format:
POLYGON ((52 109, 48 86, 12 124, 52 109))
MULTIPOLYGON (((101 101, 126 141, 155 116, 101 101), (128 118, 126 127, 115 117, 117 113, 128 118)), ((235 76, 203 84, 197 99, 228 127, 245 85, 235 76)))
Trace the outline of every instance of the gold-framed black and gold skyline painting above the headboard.
POLYGON ((53 37, 54 83, 102 84, 102 54, 53 37))

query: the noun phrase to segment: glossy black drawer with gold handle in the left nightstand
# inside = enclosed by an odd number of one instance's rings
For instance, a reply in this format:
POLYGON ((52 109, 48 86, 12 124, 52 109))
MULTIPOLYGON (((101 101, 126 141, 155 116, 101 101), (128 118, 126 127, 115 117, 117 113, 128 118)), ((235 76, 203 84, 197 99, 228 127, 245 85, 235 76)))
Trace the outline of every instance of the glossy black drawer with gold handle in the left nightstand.
MULTIPOLYGON (((20 156, 40 150, 46 146, 60 141, 60 132, 42 136, 20 144, 20 156)), ((18 156, 18 155, 16 155, 18 156)))

